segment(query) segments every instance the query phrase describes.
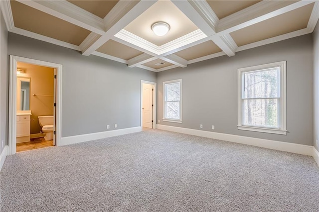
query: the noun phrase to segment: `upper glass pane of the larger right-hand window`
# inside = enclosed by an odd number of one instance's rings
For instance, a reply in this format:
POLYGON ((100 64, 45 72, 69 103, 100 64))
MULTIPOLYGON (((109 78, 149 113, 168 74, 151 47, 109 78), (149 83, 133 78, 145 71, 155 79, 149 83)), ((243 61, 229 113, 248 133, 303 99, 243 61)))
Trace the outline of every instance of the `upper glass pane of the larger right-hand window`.
POLYGON ((244 73, 244 99, 279 98, 279 68, 244 73))

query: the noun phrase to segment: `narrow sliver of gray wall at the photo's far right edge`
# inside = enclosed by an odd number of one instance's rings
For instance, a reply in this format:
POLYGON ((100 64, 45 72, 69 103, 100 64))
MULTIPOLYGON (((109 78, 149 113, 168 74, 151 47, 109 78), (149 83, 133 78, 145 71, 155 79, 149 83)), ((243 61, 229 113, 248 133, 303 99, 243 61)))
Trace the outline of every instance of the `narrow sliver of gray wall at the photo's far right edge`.
POLYGON ((319 147, 316 146, 316 140, 319 140, 319 24, 315 28, 313 33, 314 39, 314 146, 319 151, 319 147))

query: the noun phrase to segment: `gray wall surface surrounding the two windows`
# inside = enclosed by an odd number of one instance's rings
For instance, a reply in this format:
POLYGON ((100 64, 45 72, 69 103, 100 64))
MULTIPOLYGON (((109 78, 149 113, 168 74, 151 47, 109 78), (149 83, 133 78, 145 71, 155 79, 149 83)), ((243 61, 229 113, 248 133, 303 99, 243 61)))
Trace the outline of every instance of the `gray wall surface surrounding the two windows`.
POLYGON ((158 119, 162 82, 182 79, 182 123, 160 124, 313 145, 312 34, 158 73, 158 119), (237 129, 237 69, 287 61, 288 135, 237 129), (211 129, 215 125, 215 130, 211 129))

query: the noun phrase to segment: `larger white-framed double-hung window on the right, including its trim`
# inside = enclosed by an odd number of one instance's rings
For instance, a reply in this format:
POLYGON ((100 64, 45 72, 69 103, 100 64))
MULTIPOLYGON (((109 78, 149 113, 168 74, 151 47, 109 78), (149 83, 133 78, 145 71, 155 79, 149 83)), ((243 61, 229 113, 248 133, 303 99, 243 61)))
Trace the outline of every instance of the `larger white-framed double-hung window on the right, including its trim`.
POLYGON ((286 61, 238 69, 238 129, 287 135, 286 61))

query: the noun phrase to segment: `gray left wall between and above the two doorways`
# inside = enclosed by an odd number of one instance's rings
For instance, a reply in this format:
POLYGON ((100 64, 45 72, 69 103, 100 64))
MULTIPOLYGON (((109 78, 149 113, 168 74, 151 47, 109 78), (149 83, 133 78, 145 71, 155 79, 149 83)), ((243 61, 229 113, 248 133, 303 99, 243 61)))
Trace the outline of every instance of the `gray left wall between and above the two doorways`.
POLYGON ((155 72, 13 33, 8 54, 62 64, 62 137, 140 126, 141 80, 156 82, 155 72))

